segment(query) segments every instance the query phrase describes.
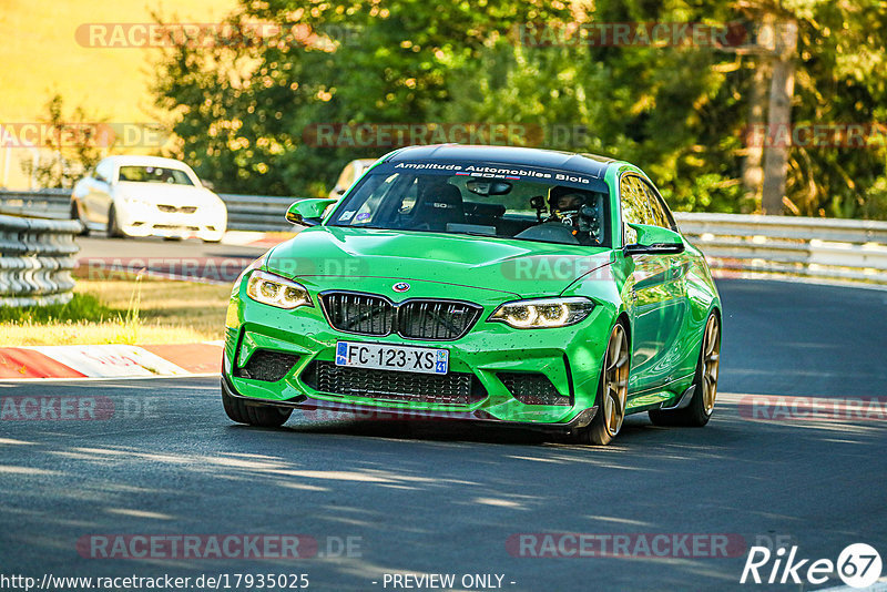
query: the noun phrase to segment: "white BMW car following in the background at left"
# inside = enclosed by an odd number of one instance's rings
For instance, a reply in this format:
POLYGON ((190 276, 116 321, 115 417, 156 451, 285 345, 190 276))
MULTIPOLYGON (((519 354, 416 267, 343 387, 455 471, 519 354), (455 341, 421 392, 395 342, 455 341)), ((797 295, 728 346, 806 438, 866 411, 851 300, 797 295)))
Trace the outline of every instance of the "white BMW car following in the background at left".
POLYGON ((188 165, 157 156, 109 156, 77 182, 71 217, 84 233, 109 236, 197 237, 225 234, 225 203, 201 184, 188 165))

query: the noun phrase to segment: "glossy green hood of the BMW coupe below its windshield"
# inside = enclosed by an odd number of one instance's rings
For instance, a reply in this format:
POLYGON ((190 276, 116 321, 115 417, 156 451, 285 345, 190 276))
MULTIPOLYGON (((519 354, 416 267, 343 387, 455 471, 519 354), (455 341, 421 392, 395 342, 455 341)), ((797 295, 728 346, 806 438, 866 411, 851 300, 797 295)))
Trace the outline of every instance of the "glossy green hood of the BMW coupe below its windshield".
POLYGON ((460 288, 486 297, 537 297, 560 294, 611 257, 610 249, 600 247, 315 226, 275 247, 265 265, 286 277, 309 279, 316 289, 385 287, 390 293, 402 280, 419 288, 404 297, 456 297, 460 288))

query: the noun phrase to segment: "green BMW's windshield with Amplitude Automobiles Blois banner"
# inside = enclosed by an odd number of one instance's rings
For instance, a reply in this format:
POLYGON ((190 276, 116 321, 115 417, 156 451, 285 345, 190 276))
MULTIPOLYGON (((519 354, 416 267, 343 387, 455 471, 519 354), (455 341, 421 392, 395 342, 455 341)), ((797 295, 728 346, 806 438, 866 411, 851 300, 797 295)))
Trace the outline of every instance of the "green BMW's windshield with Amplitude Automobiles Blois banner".
POLYGON ((329 224, 610 245, 606 186, 594 177, 528 167, 508 170, 518 173, 508 175, 482 172, 491 167, 455 166, 441 173, 399 166, 370 171, 329 224))

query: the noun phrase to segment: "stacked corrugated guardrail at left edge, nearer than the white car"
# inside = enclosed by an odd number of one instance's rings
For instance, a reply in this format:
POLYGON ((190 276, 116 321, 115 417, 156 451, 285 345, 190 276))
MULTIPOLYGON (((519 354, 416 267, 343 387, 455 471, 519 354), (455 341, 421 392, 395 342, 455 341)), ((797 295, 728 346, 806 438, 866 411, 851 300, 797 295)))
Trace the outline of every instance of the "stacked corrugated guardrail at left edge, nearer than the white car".
POLYGON ((69 302, 80 231, 80 223, 71 220, 0 215, 0 306, 69 302))

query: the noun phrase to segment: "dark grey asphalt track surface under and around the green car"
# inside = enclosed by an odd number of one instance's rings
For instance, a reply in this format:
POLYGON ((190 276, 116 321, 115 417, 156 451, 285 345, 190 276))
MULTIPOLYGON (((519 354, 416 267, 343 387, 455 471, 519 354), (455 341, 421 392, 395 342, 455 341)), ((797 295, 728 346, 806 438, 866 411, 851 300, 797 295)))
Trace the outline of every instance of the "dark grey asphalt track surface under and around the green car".
POLYGON ((753 421, 738 405, 748 395, 883 397, 887 293, 720 288, 727 314, 713 420, 665 429, 634 416, 603 449, 465 426, 294 417, 278 430, 247 428, 225 417, 215 379, 2 385, 4 405, 82 396, 112 401, 114 412, 0 421, 0 573, 307 573, 314 590, 392 590, 385 573, 431 572, 456 574, 457 589, 463 574, 501 574, 514 591, 754 590, 766 586, 738 581, 755 542, 833 561, 867 542, 887 558, 887 421, 753 421), (727 558, 509 552, 510 537, 543 532, 722 534, 744 544, 727 558), (77 548, 93 534, 227 533, 304 534, 319 553, 90 559, 77 548), (351 557, 336 557, 348 537, 351 557))

